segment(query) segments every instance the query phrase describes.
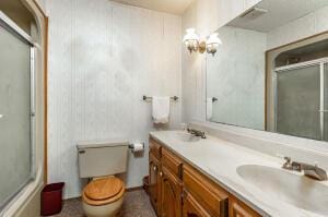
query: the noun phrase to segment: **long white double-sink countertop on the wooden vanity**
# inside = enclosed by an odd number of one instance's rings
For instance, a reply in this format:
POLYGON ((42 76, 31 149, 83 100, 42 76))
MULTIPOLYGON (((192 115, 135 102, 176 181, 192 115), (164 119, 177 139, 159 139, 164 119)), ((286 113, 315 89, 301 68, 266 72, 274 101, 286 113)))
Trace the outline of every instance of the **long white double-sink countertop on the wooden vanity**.
MULTIPOLYGON (((323 216, 298 208, 292 205, 292 203, 282 201, 279 196, 272 196, 260 188, 247 182, 237 173, 237 168, 244 165, 259 165, 281 169, 284 162, 282 158, 273 157, 209 135, 207 135, 206 140, 198 142, 181 142, 176 138, 175 134, 177 133, 184 132, 156 131, 151 132, 150 135, 180 156, 185 161, 201 170, 206 176, 262 216, 323 216)), ((286 172, 302 176, 292 171, 286 172)), ((327 181, 319 182, 319 184, 328 188, 327 181)), ((281 188, 283 189, 283 185, 281 188)))

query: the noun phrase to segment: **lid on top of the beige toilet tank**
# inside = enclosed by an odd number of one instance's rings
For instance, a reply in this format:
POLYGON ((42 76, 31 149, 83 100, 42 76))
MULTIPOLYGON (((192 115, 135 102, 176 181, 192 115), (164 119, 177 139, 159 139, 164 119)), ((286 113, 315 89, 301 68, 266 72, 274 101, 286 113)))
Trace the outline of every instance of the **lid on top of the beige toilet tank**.
POLYGON ((129 141, 127 140, 106 140, 106 141, 81 141, 78 142, 78 149, 85 148, 98 148, 98 147, 113 147, 113 146, 129 146, 129 141))

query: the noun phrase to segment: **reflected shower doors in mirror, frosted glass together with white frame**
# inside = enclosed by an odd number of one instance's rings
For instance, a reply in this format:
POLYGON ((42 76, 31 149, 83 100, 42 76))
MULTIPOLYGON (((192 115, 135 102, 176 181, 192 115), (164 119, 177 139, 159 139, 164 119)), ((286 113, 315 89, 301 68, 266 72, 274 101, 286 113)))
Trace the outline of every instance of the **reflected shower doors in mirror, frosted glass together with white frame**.
POLYGON ((274 72, 276 131, 328 141, 328 58, 274 72))

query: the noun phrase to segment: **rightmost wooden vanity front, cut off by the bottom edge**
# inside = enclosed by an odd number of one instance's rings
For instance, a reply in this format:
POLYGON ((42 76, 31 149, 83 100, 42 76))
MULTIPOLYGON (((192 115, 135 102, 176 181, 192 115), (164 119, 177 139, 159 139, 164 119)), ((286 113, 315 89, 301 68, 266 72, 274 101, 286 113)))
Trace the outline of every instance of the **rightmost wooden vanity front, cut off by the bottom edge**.
POLYGON ((230 196, 229 217, 260 217, 260 215, 234 196, 230 196))

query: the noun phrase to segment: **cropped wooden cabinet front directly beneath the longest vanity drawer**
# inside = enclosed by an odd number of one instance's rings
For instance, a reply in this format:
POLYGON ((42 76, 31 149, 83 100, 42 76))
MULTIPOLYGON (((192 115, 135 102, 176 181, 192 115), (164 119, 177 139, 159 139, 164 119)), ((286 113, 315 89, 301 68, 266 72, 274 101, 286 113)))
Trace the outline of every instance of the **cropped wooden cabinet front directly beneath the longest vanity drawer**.
POLYGON ((211 215, 196 201, 196 198, 184 192, 183 217, 211 217, 211 215))

